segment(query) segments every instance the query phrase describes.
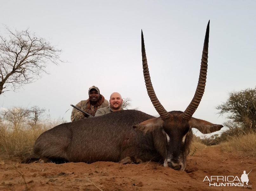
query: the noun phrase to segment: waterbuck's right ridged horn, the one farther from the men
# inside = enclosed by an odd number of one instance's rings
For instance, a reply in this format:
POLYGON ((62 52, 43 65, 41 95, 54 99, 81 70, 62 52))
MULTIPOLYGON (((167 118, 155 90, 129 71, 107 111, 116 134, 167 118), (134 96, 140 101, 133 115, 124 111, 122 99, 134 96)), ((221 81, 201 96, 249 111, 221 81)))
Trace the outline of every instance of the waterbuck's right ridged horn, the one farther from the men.
POLYGON ((209 25, 210 25, 210 20, 206 28, 204 48, 203 48, 203 54, 201 59, 202 62, 201 62, 201 68, 200 68, 200 75, 199 75, 199 80, 198 80, 197 88, 195 91, 195 95, 192 101, 190 102, 190 104, 187 106, 187 109, 183 112, 183 118, 187 120, 191 119, 192 115, 194 114, 195 110, 200 104, 200 101, 204 94, 206 75, 207 75, 207 66, 208 66, 207 59, 208 59, 208 44, 209 44, 209 25))

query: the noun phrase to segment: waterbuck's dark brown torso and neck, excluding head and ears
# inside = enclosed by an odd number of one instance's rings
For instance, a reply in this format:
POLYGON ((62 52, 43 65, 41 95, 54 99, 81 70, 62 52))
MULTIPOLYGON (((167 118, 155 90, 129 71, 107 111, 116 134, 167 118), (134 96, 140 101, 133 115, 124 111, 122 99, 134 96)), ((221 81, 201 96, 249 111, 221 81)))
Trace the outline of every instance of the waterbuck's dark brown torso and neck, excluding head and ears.
POLYGON ((154 148, 153 134, 145 134, 133 125, 154 118, 137 110, 121 110, 104 116, 63 123, 42 133, 32 154, 22 163, 39 158, 53 162, 113 161, 129 156, 143 161, 160 161, 154 148))

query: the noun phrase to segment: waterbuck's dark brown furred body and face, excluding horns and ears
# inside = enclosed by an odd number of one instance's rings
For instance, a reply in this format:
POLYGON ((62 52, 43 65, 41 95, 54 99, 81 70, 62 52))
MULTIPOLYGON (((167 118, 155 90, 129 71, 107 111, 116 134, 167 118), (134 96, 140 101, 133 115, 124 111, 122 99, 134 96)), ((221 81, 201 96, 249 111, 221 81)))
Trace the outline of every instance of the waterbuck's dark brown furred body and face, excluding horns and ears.
POLYGON ((157 122, 159 118, 138 110, 121 110, 63 123, 42 133, 35 142, 32 154, 22 163, 40 158, 56 163, 119 162, 126 157, 135 162, 160 162, 169 155, 174 161, 182 158, 185 163, 193 134, 189 123, 181 117, 181 111, 169 113, 169 121, 164 121, 162 126, 157 122), (150 119, 157 124, 154 130, 144 133, 133 128, 150 119), (187 132, 185 143, 182 143, 182 137, 187 132), (165 133, 170 137, 169 144, 165 133))

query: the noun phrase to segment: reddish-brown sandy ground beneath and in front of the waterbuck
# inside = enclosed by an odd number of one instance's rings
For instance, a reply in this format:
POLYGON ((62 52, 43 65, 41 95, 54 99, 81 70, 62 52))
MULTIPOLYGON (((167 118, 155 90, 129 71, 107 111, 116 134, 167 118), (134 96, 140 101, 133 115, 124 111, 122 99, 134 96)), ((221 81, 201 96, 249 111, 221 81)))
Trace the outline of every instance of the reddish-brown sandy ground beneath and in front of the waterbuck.
MULTIPOLYGON (((0 164, 0 190, 256 190, 256 157, 221 152, 207 147, 187 158, 186 171, 175 171, 162 164, 118 164, 113 162, 0 164), (246 170, 248 185, 209 186, 205 176, 238 176, 246 170)), ((233 181, 233 178, 230 178, 233 181)), ((213 180, 213 182, 216 180, 213 180)), ((235 181, 238 182, 238 181, 235 181)))

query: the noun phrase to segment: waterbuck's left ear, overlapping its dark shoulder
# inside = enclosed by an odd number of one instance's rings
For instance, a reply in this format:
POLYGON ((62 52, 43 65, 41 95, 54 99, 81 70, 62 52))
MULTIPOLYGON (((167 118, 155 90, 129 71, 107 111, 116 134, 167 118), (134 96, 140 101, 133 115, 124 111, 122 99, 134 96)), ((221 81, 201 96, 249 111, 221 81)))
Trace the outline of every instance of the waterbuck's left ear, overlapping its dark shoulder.
POLYGON ((143 121, 137 125, 134 125, 133 128, 136 128, 140 131, 143 132, 152 132, 156 128, 162 127, 163 120, 161 117, 153 118, 153 119, 148 119, 147 121, 143 121))

